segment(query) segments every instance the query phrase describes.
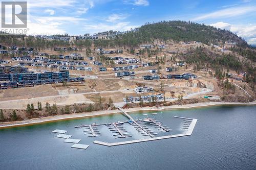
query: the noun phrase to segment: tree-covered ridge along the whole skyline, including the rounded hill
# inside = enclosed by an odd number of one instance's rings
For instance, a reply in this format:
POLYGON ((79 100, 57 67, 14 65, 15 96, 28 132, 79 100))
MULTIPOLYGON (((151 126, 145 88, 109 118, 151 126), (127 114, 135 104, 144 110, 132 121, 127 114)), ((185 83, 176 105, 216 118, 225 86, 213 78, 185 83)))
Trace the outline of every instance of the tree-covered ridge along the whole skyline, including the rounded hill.
MULTIPOLYGON (((117 32, 108 31, 108 34, 117 32)), ((98 33, 98 35, 104 34, 98 33)), ((204 44, 222 45, 225 41, 236 42, 237 46, 250 47, 246 41, 227 30, 217 29, 190 21, 161 21, 147 23, 133 31, 117 34, 115 38, 100 38, 97 40, 74 40, 72 42, 58 40, 43 40, 33 36, 1 36, 0 43, 4 45, 33 46, 34 48, 51 48, 54 46, 76 45, 79 47, 138 47, 142 43, 154 43, 154 40, 200 41, 204 44)))

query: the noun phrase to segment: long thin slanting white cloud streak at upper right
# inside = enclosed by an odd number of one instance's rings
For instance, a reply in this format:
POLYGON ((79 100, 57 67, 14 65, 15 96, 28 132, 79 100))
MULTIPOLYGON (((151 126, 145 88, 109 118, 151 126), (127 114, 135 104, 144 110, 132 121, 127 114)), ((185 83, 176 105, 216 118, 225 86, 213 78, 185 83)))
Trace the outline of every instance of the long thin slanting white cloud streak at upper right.
POLYGON ((248 6, 248 7, 235 7, 235 8, 227 8, 223 10, 218 10, 215 12, 211 12, 208 14, 203 14, 191 20, 205 20, 205 19, 214 19, 214 18, 228 18, 234 16, 241 16, 251 12, 255 12, 255 6, 248 6))

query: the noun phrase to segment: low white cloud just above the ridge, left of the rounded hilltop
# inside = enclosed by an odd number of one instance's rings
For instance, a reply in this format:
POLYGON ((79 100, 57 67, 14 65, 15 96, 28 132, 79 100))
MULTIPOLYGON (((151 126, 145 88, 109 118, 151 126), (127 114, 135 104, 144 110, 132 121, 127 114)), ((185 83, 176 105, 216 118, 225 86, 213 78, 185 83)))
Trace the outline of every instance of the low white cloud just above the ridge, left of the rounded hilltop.
POLYGON ((131 28, 137 28, 138 26, 131 26, 130 22, 119 22, 116 24, 104 24, 104 23, 99 23, 98 25, 85 25, 84 26, 84 31, 88 33, 98 33, 98 32, 104 32, 104 31, 127 31, 130 30, 131 28))

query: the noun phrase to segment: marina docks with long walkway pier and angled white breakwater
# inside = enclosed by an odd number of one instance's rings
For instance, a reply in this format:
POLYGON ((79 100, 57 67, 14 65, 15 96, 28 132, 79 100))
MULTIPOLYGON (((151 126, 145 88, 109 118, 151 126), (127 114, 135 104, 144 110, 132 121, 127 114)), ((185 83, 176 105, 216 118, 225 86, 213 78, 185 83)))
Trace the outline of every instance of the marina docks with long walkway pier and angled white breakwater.
MULTIPOLYGON (((92 125, 81 125, 81 126, 75 126, 75 128, 82 128, 84 130, 84 134, 87 134, 89 137, 96 137, 101 136, 100 132, 98 130, 98 126, 106 126, 108 127, 111 134, 115 137, 115 139, 119 138, 127 138, 132 137, 127 130, 124 129, 124 124, 130 124, 134 128, 136 128, 136 131, 142 134, 144 137, 143 139, 135 139, 135 140, 128 140, 128 141, 119 141, 119 142, 104 142, 95 140, 93 143, 105 145, 108 147, 112 147, 115 145, 122 145, 122 144, 131 144, 131 143, 138 143, 138 142, 145 142, 145 141, 153 141, 153 140, 160 140, 160 139, 167 139, 167 138, 175 138, 175 137, 182 137, 182 136, 189 136, 192 134, 194 127, 196 126, 197 119, 194 118, 187 118, 187 117, 179 117, 174 116, 175 118, 183 119, 181 129, 186 130, 185 133, 182 134, 175 134, 175 135, 165 135, 165 136, 158 136, 156 137, 158 133, 154 133, 150 128, 147 126, 152 126, 159 130, 160 132, 169 132, 172 129, 169 129, 167 126, 163 125, 163 123, 159 122, 156 118, 144 118, 144 119, 134 119, 130 114, 125 112, 122 108, 118 108, 121 113, 129 118, 129 120, 125 122, 116 122, 116 123, 108 123, 108 124, 92 124, 92 125), (150 137, 150 138, 146 138, 150 137)), ((147 114, 143 114, 147 115, 147 114)))

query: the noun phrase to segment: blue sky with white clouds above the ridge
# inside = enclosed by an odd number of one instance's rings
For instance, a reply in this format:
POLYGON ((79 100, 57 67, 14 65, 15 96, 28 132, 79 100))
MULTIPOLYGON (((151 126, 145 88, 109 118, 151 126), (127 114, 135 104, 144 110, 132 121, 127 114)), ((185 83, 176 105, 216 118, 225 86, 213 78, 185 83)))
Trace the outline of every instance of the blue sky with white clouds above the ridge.
POLYGON ((28 0, 27 2, 30 35, 65 33, 83 35, 108 30, 127 31, 146 22, 190 20, 230 30, 249 44, 256 44, 256 0, 28 0))

